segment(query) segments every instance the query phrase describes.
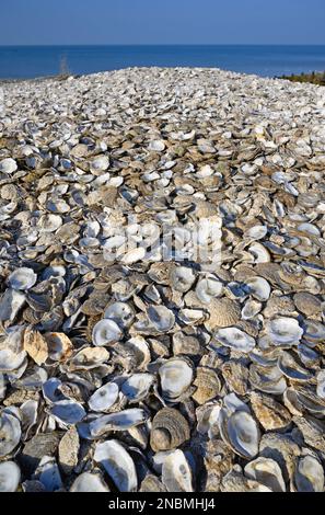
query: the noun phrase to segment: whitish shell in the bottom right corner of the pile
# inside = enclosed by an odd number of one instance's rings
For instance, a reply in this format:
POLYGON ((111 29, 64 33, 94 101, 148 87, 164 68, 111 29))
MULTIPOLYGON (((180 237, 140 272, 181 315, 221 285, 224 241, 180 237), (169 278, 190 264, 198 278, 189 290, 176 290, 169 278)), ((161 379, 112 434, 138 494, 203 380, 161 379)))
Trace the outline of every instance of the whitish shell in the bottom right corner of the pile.
POLYGON ((299 458, 294 482, 298 492, 323 492, 324 470, 320 461, 313 456, 299 458))

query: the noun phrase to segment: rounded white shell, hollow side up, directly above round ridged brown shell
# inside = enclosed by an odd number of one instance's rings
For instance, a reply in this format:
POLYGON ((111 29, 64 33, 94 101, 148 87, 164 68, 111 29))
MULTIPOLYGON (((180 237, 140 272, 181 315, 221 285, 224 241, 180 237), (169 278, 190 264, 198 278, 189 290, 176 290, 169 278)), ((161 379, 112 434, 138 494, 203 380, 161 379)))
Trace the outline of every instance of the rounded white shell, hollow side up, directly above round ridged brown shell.
POLYGON ((175 401, 193 381, 193 369, 185 359, 167 359, 159 369, 162 396, 167 401, 175 401))

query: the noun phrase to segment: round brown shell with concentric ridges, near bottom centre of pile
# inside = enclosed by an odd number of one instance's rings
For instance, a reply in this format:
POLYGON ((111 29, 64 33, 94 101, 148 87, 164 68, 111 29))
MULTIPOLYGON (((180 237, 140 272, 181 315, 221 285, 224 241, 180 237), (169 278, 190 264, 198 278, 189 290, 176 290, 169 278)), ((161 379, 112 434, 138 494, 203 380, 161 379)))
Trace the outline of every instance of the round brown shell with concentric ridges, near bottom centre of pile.
POLYGON ((189 439, 187 420, 173 408, 163 408, 152 420, 150 446, 155 451, 171 450, 189 439))

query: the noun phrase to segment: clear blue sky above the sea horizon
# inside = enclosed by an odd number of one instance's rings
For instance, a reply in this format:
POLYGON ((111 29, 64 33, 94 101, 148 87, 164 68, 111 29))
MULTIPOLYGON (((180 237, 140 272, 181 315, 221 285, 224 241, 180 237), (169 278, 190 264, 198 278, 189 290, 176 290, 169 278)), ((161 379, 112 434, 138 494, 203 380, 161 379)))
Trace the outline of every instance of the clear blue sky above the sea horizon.
POLYGON ((325 0, 1 0, 0 45, 325 44, 325 0))

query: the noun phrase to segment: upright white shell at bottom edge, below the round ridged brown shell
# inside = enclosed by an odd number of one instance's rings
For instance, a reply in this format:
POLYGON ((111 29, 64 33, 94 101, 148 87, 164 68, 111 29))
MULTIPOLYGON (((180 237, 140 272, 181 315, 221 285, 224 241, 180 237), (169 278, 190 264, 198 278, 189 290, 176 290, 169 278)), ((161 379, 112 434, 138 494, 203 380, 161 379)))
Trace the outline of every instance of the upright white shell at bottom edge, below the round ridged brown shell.
POLYGON ((169 492, 193 492, 193 474, 183 450, 169 454, 162 466, 162 482, 169 492))

